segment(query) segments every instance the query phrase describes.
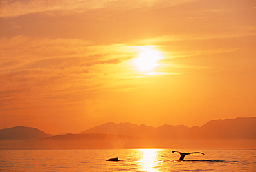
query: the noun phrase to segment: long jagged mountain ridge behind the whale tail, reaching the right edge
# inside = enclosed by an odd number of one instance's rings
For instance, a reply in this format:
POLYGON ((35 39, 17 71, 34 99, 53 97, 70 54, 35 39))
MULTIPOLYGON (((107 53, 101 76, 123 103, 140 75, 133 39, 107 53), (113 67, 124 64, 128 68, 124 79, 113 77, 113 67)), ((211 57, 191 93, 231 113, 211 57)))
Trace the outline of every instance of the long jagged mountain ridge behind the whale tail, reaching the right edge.
POLYGON ((152 127, 131 123, 109 122, 95 126, 85 133, 123 134, 143 138, 165 139, 256 139, 256 117, 212 120, 201 127, 184 125, 152 127))

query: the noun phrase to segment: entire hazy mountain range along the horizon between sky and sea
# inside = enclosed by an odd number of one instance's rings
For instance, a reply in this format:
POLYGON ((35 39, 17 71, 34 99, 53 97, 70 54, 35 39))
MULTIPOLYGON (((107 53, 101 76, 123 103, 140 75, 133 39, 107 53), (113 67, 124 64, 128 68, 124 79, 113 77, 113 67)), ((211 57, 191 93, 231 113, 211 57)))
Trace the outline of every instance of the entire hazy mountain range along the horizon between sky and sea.
POLYGON ((250 148, 255 149, 256 117, 212 120, 201 127, 152 127, 113 122, 79 134, 51 136, 29 127, 0 130, 0 149, 115 149, 115 148, 250 148), (9 142, 5 140, 26 140, 9 142))

